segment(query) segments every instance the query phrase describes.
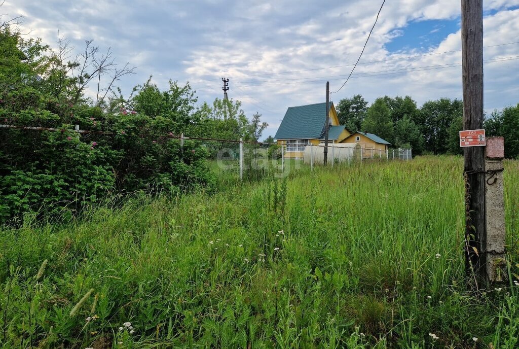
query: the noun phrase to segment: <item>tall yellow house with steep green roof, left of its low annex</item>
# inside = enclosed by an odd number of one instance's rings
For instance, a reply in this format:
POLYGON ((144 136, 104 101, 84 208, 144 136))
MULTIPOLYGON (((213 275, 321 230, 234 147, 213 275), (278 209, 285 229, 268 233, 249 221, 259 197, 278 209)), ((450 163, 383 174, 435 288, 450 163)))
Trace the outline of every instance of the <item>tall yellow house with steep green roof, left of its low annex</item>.
MULTIPOLYGON (((350 132, 339 125, 337 111, 333 102, 330 104, 329 143, 339 143, 350 136, 350 132)), ((318 145, 324 141, 326 123, 326 102, 300 106, 291 106, 279 125, 276 136, 277 144, 286 145, 286 157, 302 158, 305 147, 318 145)))

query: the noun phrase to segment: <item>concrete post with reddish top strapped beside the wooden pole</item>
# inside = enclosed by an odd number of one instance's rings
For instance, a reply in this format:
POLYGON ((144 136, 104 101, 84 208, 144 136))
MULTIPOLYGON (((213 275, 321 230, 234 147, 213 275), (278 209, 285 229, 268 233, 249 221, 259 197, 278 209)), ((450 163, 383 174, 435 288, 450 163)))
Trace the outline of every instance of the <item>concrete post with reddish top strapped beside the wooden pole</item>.
POLYGON ((490 283, 502 283, 508 280, 507 262, 504 247, 506 242, 502 172, 504 140, 503 137, 490 137, 487 138, 486 144, 486 274, 490 283))

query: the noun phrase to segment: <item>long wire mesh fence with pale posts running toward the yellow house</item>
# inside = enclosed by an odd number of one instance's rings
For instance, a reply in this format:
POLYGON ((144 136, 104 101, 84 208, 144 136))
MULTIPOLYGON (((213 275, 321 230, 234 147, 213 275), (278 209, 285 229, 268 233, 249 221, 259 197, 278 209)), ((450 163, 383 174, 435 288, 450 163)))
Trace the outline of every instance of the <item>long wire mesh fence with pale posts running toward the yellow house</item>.
MULTIPOLYGON (((113 132, 80 130, 75 125, 73 130, 36 127, 0 125, 0 129, 21 129, 33 131, 52 132, 77 132, 82 135, 112 135, 113 132)), ((304 147, 303 156, 293 156, 295 152, 287 152, 286 144, 265 143, 257 141, 188 137, 184 133, 174 135, 169 132, 165 137, 178 139, 181 152, 184 151, 184 143, 188 140, 199 141, 200 146, 207 150, 212 166, 220 171, 235 173, 239 179, 263 178, 267 172, 274 172, 277 177, 287 176, 292 170, 298 170, 303 165, 309 165, 313 171, 316 165, 324 163, 324 149, 322 144, 308 144, 304 147)), ((363 162, 366 160, 411 160, 411 149, 375 149, 362 147, 354 143, 330 143, 327 146, 327 165, 334 167, 336 164, 363 162)))

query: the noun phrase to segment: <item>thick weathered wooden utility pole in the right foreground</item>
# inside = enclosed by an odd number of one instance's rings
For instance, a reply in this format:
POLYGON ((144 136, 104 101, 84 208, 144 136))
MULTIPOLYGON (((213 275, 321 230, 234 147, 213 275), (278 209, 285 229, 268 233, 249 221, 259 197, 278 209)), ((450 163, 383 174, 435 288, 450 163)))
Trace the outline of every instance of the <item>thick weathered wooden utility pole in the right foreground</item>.
MULTIPOLYGON (((461 0, 463 130, 483 128, 483 0, 461 0)), ((486 275, 485 147, 464 149, 467 275, 482 288, 486 275)))

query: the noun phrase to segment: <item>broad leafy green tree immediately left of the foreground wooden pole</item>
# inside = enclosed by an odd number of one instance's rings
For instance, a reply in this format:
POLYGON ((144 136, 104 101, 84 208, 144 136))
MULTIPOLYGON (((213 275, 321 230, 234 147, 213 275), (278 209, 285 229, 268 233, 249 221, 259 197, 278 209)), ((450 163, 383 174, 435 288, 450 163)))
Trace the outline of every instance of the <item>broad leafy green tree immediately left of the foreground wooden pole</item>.
POLYGON ((463 103, 458 99, 424 103, 413 121, 425 137, 425 149, 434 154, 446 153, 450 124, 462 115, 463 103))

